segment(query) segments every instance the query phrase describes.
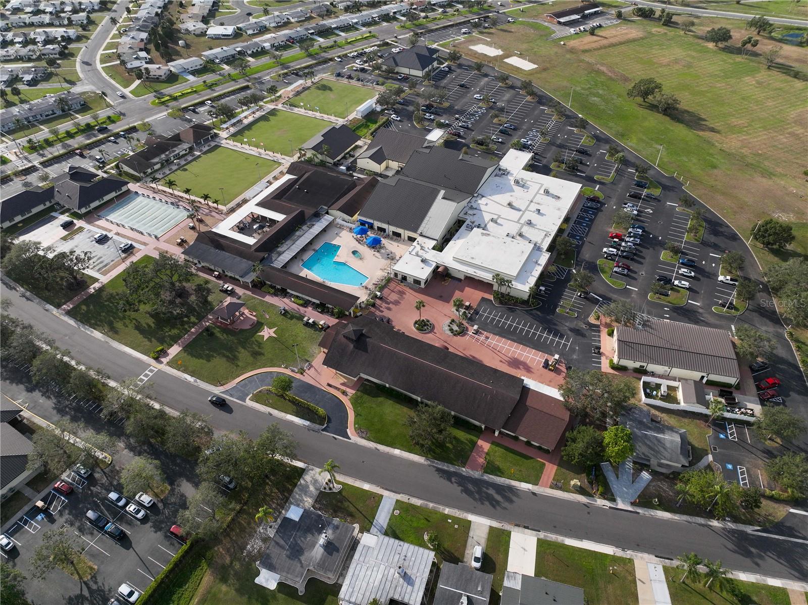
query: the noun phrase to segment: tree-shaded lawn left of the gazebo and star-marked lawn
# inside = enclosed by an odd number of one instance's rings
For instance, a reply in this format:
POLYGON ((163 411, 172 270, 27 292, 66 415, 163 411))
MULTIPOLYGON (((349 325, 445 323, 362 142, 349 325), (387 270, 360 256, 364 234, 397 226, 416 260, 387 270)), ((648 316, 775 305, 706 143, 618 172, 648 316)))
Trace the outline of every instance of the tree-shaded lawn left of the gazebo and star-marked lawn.
MULTIPOLYGON (((136 263, 149 264, 154 263, 154 260, 154 257, 145 256, 136 263)), ((115 300, 116 292, 124 290, 123 275, 124 273, 116 275, 104 284, 103 288, 87 296, 70 310, 69 315, 146 355, 159 345, 166 349, 173 345, 225 298, 224 294, 214 289, 204 309, 196 309, 196 312, 177 319, 152 317, 149 315, 149 309, 145 307, 127 313, 118 309, 115 300)), ((193 284, 205 281, 203 277, 198 277, 193 280, 193 284)))

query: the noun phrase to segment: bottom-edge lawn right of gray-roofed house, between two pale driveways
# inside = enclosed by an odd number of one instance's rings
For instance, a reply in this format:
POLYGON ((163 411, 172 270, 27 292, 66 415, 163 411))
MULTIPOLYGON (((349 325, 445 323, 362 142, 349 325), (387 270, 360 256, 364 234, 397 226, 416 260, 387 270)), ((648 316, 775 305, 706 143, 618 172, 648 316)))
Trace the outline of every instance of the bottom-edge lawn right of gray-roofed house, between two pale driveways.
POLYGON ((601 552, 539 540, 536 547, 537 577, 583 588, 590 605, 637 603, 634 562, 601 552), (610 568, 612 573, 609 573, 610 568))

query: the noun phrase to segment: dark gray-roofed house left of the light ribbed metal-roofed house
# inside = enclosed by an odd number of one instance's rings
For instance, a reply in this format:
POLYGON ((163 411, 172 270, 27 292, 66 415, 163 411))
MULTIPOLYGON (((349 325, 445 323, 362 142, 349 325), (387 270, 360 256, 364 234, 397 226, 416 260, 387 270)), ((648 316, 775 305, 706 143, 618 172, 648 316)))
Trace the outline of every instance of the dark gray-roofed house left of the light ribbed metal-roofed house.
POLYGON ((333 584, 358 532, 358 526, 326 517, 317 510, 289 506, 256 563, 260 573, 255 583, 276 590, 283 582, 297 588, 298 594, 305 594, 310 578, 333 584))

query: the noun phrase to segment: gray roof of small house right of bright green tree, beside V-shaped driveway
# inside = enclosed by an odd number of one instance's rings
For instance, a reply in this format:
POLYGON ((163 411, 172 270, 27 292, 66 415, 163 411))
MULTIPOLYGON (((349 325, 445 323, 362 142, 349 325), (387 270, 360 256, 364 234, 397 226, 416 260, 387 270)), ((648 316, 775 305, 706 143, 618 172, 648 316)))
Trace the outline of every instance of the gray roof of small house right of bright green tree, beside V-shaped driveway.
POLYGON ((689 464, 688 431, 654 422, 648 410, 636 405, 621 414, 620 423, 631 430, 635 458, 680 466, 689 464))

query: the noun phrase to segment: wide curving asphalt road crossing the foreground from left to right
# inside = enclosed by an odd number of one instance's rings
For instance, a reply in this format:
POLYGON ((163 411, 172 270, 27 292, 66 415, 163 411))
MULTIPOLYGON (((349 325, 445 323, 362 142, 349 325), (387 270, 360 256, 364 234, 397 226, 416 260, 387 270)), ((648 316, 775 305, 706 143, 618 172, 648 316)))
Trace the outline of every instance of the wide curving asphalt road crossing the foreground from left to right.
MULTIPOLYGON (((12 301, 11 313, 50 334, 75 359, 90 367, 101 368, 113 380, 140 376, 149 366, 145 361, 94 338, 78 327, 48 313, 36 303, 23 300, 5 285, 4 298, 12 301)), ((175 410, 194 410, 211 414, 211 422, 220 431, 247 431, 256 436, 273 418, 244 405, 227 411, 214 410, 208 404, 210 391, 173 374, 158 371, 149 379, 154 397, 175 410)), ((58 418, 55 410, 32 410, 44 418, 58 418)), ((808 540, 793 526, 785 526, 795 540, 776 536, 774 531, 742 531, 663 519, 636 511, 612 510, 605 506, 571 502, 523 489, 499 485, 484 478, 469 477, 420 464, 399 456, 377 452, 332 435, 308 431, 292 422, 278 421, 298 440, 298 458, 322 465, 327 459, 339 460, 343 473, 381 485, 394 493, 409 494, 444 506, 465 510, 507 523, 519 523, 532 529, 561 536, 591 540, 648 552, 658 557, 675 558, 682 552, 696 551, 702 557, 720 559, 730 569, 761 573, 774 578, 804 581, 808 577, 808 540)), ((804 523, 801 530, 805 532, 804 523)))

